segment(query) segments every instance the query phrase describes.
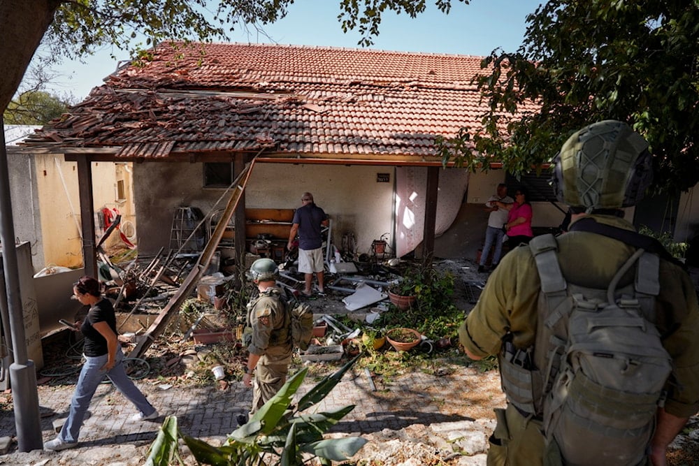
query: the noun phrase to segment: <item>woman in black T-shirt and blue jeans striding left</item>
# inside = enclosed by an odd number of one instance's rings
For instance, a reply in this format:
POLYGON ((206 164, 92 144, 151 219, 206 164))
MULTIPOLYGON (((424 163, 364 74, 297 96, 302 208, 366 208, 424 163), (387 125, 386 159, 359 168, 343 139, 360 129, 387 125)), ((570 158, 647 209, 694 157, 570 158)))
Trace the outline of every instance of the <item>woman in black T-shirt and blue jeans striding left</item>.
POLYGON ((124 370, 124 354, 117 340, 114 307, 108 299, 103 298, 99 282, 92 277, 80 278, 73 284, 73 298, 89 306, 85 320, 76 322, 73 328, 85 335, 85 364, 80 370, 66 423, 58 437, 44 444, 44 449, 50 451, 78 446, 80 428, 90 400, 105 377, 138 409, 131 421, 150 421, 159 416, 124 370))

